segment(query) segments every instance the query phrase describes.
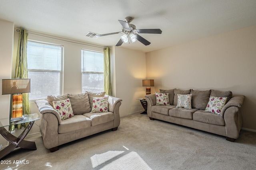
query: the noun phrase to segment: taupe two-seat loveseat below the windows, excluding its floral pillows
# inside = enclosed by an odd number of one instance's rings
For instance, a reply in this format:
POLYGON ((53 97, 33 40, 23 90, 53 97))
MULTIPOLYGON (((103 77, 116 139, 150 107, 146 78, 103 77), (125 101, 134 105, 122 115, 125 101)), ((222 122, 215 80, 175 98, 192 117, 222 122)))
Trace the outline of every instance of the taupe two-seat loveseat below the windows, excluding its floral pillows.
POLYGON ((120 125, 119 107, 121 99, 105 95, 105 92, 82 94, 64 94, 48 96, 47 100, 37 100, 36 105, 42 114, 40 131, 44 146, 51 152, 58 146, 95 133, 112 129, 120 125), (108 97, 107 112, 91 113, 93 97, 108 97), (53 101, 70 100, 74 116, 62 120, 53 108, 53 101))

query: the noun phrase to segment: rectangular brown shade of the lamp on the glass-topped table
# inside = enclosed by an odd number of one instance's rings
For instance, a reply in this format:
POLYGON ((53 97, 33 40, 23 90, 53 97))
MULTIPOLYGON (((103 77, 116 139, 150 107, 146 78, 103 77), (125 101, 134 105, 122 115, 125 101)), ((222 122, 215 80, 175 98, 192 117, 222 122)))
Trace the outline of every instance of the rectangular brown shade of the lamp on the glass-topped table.
POLYGON ((2 94, 30 92, 30 79, 2 79, 2 94))

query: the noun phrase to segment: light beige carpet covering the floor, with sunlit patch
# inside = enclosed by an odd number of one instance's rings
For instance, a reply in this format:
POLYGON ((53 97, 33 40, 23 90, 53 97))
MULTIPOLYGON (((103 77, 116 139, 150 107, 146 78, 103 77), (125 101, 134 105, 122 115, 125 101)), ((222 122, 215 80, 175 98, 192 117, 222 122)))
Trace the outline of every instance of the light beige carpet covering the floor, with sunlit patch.
POLYGON ((122 117, 117 131, 61 145, 53 153, 40 134, 26 140, 35 141, 37 150, 14 150, 3 159, 12 163, 0 164, 1 170, 256 169, 256 133, 242 130, 232 143, 219 135, 152 121, 146 114, 122 117), (16 160, 28 164, 14 164, 16 160))

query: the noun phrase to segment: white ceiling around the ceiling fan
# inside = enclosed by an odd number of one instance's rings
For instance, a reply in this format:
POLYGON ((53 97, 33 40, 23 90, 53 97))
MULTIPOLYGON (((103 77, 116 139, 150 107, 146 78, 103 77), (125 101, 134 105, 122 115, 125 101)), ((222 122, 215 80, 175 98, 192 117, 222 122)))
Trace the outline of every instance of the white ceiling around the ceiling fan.
POLYGON ((118 20, 128 16, 137 29, 162 30, 140 34, 148 46, 121 46, 148 52, 256 25, 256 0, 0 0, 0 19, 15 27, 103 46, 116 45, 120 34, 84 35, 121 31, 118 20))

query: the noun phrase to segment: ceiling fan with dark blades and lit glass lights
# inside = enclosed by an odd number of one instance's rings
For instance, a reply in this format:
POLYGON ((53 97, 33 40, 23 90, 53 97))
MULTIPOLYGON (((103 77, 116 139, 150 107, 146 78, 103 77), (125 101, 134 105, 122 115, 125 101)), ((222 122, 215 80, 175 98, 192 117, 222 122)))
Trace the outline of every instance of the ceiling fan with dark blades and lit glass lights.
POLYGON ((120 37, 120 40, 116 44, 116 46, 122 45, 122 43, 134 43, 135 41, 140 41, 144 45, 150 45, 150 42, 140 35, 138 33, 152 33, 152 34, 161 34, 162 30, 161 29, 136 29, 136 26, 131 24, 130 22, 132 21, 132 17, 126 17, 124 21, 118 20, 119 23, 122 25, 122 31, 120 32, 114 32, 114 33, 107 33, 107 34, 101 34, 101 35, 96 35, 95 37, 103 37, 106 35, 113 35, 113 34, 119 34, 119 33, 124 33, 120 37))

